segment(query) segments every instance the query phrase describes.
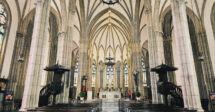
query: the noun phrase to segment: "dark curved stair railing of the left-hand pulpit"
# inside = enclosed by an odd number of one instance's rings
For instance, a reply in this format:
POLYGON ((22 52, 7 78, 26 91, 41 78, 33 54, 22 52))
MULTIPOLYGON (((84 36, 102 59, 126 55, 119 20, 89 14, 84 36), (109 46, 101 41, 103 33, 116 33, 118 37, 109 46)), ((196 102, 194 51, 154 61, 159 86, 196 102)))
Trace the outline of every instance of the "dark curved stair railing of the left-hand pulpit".
POLYGON ((62 91, 63 83, 61 82, 52 82, 50 84, 47 84, 40 90, 39 107, 48 105, 49 97, 53 95, 53 100, 55 100, 55 96, 57 94, 60 94, 62 91))

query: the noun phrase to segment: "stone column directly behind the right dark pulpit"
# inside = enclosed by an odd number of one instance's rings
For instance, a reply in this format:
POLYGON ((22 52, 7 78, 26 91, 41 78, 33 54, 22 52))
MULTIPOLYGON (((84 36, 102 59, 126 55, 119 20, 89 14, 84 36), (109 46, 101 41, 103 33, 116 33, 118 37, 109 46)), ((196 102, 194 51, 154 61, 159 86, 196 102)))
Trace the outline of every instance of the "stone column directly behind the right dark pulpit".
MULTIPOLYGON (((146 0, 149 2, 149 0, 146 0)), ((149 48, 149 65, 151 68, 162 64, 163 60, 163 40, 162 40, 162 33, 159 31, 159 2, 156 1, 155 4, 155 14, 152 18, 152 9, 150 6, 146 6, 145 14, 147 15, 147 31, 148 31, 148 48, 149 48), (153 22, 152 22, 153 21, 153 22)), ((147 3, 149 4, 149 3, 147 3)), ((161 94, 157 91, 157 81, 158 75, 151 72, 150 73, 150 80, 151 80, 151 91, 152 91, 152 103, 153 104, 162 104, 163 98, 161 94)))

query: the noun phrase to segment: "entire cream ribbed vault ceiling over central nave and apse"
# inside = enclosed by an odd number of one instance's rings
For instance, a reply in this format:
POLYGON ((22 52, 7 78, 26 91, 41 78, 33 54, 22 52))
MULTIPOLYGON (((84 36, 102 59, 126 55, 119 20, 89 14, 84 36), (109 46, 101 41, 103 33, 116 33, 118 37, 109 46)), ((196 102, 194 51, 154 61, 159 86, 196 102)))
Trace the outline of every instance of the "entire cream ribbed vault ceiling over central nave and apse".
MULTIPOLYGON (((77 17, 74 25, 81 31, 81 22, 87 20, 89 53, 93 58, 104 61, 110 53, 115 61, 127 59, 128 43, 131 37, 131 24, 135 15, 142 16, 143 0, 121 0, 119 4, 105 5, 101 0, 77 0, 77 17), (140 8, 136 8, 140 6, 140 8), (139 13, 136 13, 136 9, 139 13), (78 22, 79 21, 79 22, 78 22)), ((142 26, 142 21, 141 25, 142 26)), ((77 40, 78 42, 78 40, 77 40)))

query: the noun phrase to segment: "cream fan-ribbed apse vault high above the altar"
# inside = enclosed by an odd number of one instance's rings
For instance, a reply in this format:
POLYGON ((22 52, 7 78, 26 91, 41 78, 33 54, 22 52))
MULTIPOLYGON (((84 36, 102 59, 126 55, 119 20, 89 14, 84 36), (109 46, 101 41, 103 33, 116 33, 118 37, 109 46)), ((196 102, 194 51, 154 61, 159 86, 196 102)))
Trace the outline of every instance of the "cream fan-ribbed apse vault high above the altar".
POLYGON ((117 48, 122 50, 127 45, 129 32, 123 21, 109 10, 92 28, 91 39, 96 48, 102 47, 105 52, 116 52, 117 48))

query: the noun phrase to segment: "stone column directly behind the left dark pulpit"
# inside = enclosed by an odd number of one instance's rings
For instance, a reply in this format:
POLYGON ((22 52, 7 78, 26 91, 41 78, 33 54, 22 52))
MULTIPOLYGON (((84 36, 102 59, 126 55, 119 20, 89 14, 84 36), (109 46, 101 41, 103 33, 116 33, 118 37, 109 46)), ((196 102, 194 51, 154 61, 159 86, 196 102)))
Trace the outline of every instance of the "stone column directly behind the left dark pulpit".
MULTIPOLYGON (((73 18, 75 16, 75 0, 69 1, 68 16, 64 6, 65 1, 61 1, 62 8, 62 32, 58 35, 58 51, 57 62, 66 68, 71 68, 72 61, 72 32, 73 32, 73 18)), ((69 89, 70 89, 71 72, 65 72, 63 74, 62 82, 64 82, 63 93, 57 98, 57 103, 68 103, 69 101, 69 89)))

